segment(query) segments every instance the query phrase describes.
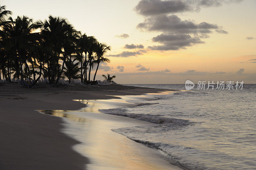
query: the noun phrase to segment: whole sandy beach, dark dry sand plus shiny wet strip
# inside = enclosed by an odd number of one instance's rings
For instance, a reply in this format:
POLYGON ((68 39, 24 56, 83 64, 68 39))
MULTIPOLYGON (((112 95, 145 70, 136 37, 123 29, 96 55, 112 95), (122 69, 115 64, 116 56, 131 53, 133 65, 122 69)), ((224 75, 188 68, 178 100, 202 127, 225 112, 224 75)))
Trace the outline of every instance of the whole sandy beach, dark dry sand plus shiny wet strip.
POLYGON ((141 95, 158 91, 163 89, 114 85, 104 90, 100 87, 88 90, 80 86, 26 89, 17 84, 4 85, 0 88, 0 168, 177 169, 165 159, 161 151, 111 131, 113 128, 152 123, 88 112, 79 118, 90 122, 83 127, 84 133, 80 133, 79 130, 72 132, 75 125, 70 124, 68 119, 36 111, 76 111, 86 105, 73 100, 110 99, 118 98, 113 97, 116 95, 141 95))

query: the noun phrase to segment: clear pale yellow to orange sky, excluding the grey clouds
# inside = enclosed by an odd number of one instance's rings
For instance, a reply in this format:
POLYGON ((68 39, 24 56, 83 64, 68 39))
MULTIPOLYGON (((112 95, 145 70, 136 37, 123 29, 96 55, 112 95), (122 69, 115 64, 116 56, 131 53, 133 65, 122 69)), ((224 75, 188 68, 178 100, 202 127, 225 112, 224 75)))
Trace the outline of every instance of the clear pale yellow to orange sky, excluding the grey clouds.
MULTIPOLYGON (((162 3, 161 0, 151 1, 162 3)), ((227 0, 227 3, 219 5, 197 6, 200 8, 197 11, 166 12, 146 16, 135 10, 139 2, 138 0, 95 0, 93 2, 2 0, 1 5, 6 5, 7 10, 13 11, 13 16, 27 15, 35 21, 44 19, 49 14, 66 17, 77 30, 86 32, 87 35, 94 35, 100 42, 110 45, 112 50, 108 53, 110 55, 108 58, 111 63, 100 67, 98 79, 102 79, 101 74, 111 73, 116 75, 117 82, 131 84, 184 83, 187 79, 192 81, 229 81, 232 79, 256 83, 256 63, 253 63, 256 60, 252 60, 256 59, 255 0, 244 0, 240 3, 228 3, 227 0), (216 24, 219 30, 227 31, 228 34, 219 34, 212 29, 212 33, 207 33, 208 38, 200 38, 205 43, 182 46, 186 49, 152 50, 148 46, 163 45, 163 43, 152 42, 153 37, 161 34, 181 34, 180 30, 175 32, 169 28, 167 32, 160 29, 141 30, 137 27, 144 19, 161 15, 176 15, 182 21, 191 21, 197 25, 201 22, 216 24), (116 36, 123 34, 128 34, 129 37, 116 36), (247 39, 247 37, 251 38, 247 39), (144 48, 124 49, 125 44, 141 44, 144 48), (137 55, 111 57, 123 51, 137 52, 137 55), (136 67, 138 64, 142 66, 136 67), (124 68, 120 70, 116 68, 117 66, 124 68), (139 69, 143 70, 142 67, 145 67, 145 71, 139 71, 139 69), (240 69, 244 71, 237 73, 240 69)), ((188 0, 182 2, 187 3, 188 0)), ((189 5, 196 6, 196 4, 189 5)), ((144 10, 146 7, 142 5, 140 9, 144 10)), ((192 38, 197 36, 194 33, 185 34, 192 38)), ((174 43, 177 44, 177 42, 174 43)))

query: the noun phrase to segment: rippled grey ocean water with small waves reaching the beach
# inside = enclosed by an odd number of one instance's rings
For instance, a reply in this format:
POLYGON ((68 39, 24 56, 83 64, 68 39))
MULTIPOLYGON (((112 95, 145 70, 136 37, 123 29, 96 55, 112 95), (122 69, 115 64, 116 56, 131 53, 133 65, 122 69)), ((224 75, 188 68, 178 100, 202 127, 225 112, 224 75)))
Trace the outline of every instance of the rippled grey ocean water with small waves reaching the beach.
MULTIPOLYGON (((181 89, 184 84, 129 84, 181 89)), ((166 153, 184 169, 256 169, 256 85, 243 89, 190 90, 148 94, 154 100, 100 112, 157 123, 112 129, 166 153)))

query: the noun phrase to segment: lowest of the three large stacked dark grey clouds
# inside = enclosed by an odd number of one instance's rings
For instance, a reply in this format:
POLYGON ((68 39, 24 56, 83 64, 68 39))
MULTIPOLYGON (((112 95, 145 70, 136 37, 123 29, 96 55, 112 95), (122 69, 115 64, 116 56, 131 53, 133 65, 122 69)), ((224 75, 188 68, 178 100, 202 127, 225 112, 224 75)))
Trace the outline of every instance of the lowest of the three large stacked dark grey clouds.
POLYGON ((186 49, 185 47, 192 46, 194 44, 204 43, 198 37, 191 37, 188 34, 180 35, 157 35, 152 38, 153 42, 161 43, 163 45, 149 46, 151 50, 179 50, 186 49))

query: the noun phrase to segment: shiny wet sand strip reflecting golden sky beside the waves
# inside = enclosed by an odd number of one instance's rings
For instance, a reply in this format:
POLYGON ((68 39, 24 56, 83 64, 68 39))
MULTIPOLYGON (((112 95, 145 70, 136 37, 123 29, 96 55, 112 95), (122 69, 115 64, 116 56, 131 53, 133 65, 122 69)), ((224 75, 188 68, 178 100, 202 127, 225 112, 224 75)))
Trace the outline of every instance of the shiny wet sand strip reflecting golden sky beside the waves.
POLYGON ((120 99, 76 100, 87 106, 79 111, 40 110, 39 112, 64 118, 63 132, 81 142, 73 149, 90 159, 90 164, 85 167, 87 169, 180 169, 171 165, 164 153, 136 143, 111 130, 155 124, 98 111, 132 107, 156 98, 150 95, 115 97, 120 99))

